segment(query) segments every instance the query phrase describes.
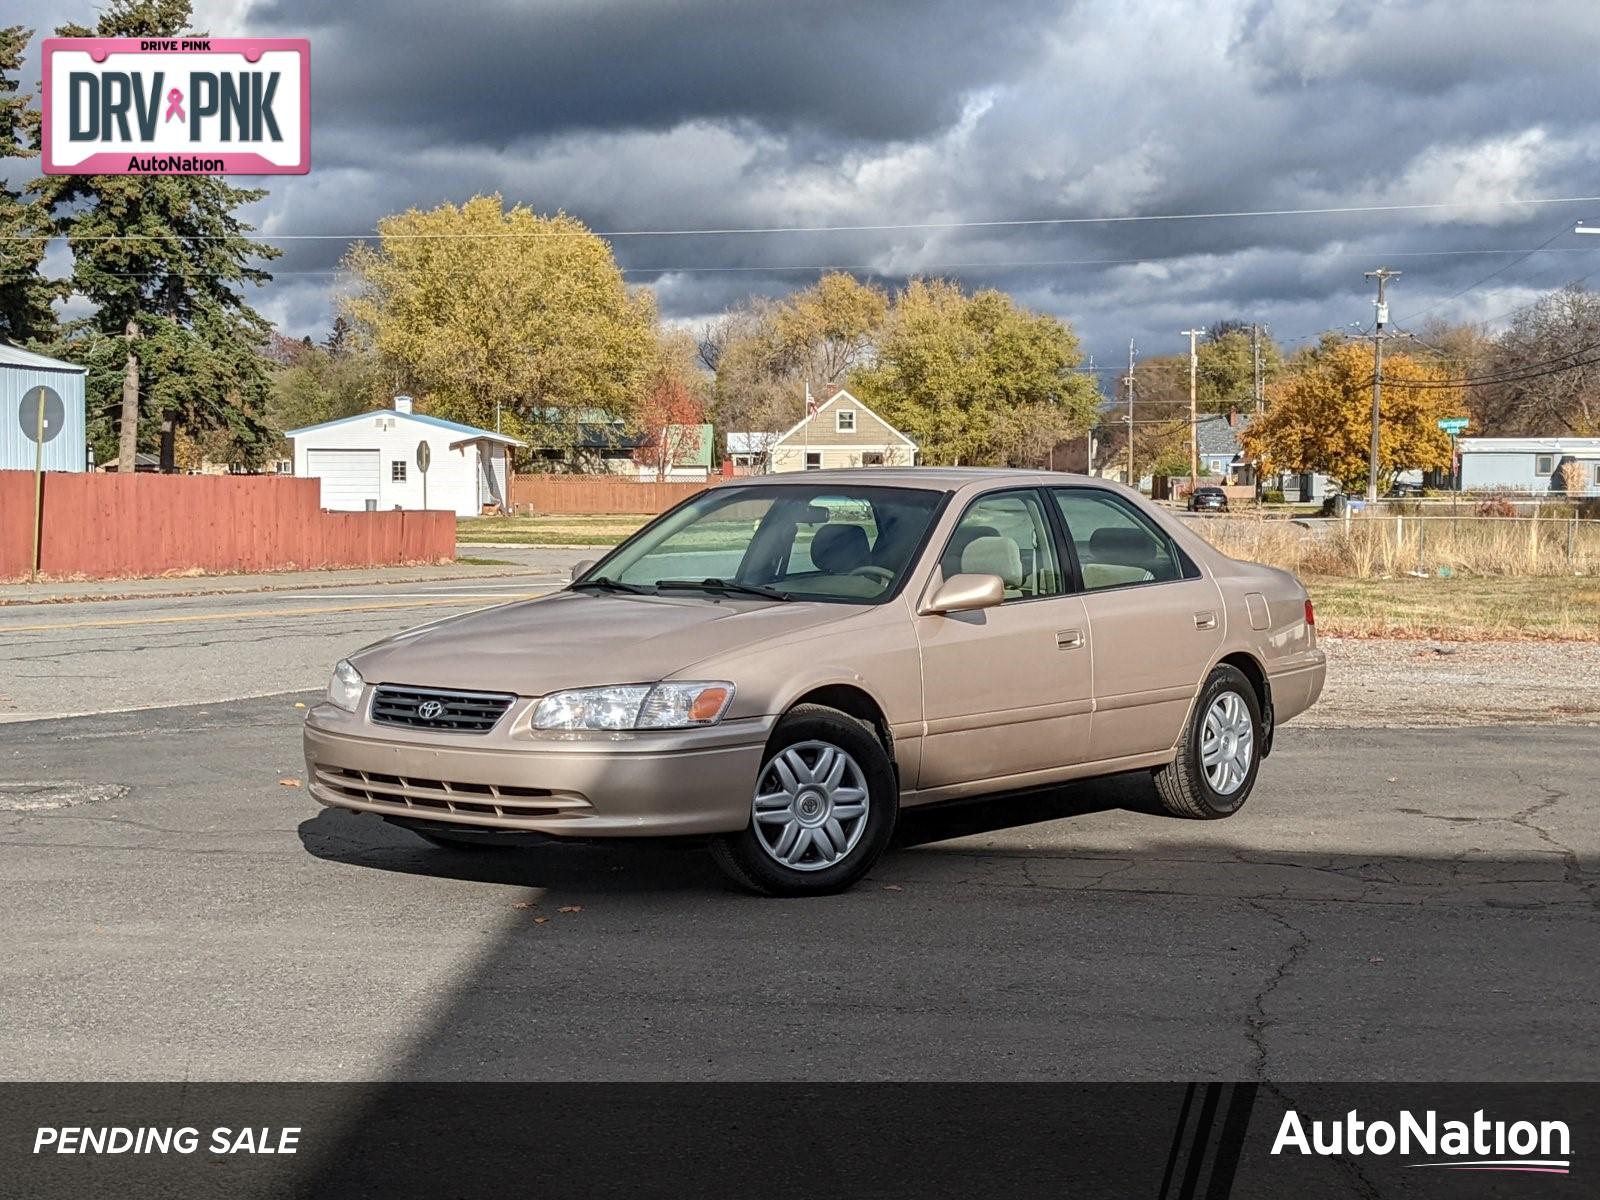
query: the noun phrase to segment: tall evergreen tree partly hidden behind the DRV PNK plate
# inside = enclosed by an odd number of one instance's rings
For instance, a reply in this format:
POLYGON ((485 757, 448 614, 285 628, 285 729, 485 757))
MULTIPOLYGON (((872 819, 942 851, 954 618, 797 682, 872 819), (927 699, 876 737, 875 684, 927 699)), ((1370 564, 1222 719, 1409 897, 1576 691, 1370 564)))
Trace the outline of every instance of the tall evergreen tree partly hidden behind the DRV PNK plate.
MULTIPOLYGON (((93 29, 61 37, 192 35, 189 0, 110 0, 93 29)), ((278 250, 251 242, 240 205, 266 192, 214 176, 54 174, 35 189, 72 250, 72 286, 94 315, 72 331, 80 358, 99 363, 120 342, 117 461, 133 470, 141 394, 158 421, 162 470, 176 467, 178 434, 224 434, 229 451, 258 462, 270 446, 261 350, 270 326, 242 294, 272 278, 256 266, 278 250)), ((94 389, 104 373, 90 373, 94 389)), ((93 392, 107 408, 114 394, 93 392)), ((206 438, 214 443, 214 437, 206 438)))

